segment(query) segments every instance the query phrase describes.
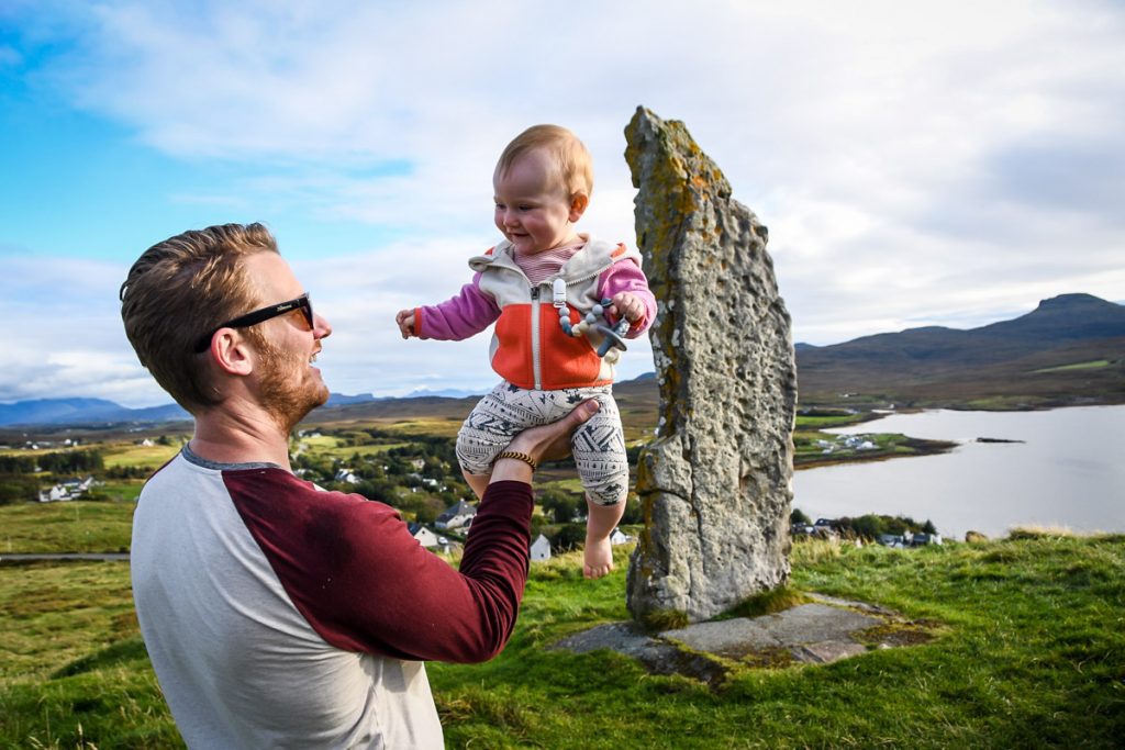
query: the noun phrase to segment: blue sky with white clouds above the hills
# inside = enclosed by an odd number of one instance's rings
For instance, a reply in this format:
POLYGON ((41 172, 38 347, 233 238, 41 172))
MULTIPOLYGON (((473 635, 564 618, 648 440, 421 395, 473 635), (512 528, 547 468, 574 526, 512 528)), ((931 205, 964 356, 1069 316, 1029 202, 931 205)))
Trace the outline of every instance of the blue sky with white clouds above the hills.
MULTIPOLYGON (((0 403, 166 404, 117 291, 186 229, 267 224, 340 394, 496 381, 487 334, 403 341, 500 235, 522 129, 590 148, 578 229, 636 244, 623 129, 685 124, 770 228, 817 345, 1125 301, 1116 0, 0 0, 0 403)), ((652 370, 647 340, 621 378, 652 370)))

